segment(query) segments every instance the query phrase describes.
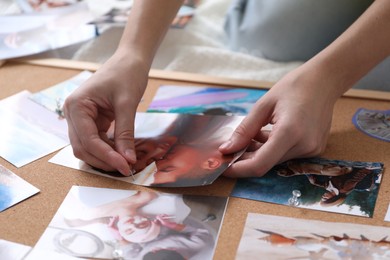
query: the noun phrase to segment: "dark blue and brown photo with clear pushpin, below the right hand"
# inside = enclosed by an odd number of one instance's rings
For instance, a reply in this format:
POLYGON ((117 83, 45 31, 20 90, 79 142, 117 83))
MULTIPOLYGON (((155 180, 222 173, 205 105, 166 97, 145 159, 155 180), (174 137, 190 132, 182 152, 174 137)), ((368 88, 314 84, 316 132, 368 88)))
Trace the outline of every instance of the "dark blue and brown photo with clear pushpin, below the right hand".
POLYGON ((261 178, 238 179, 231 196, 372 217, 382 171, 378 162, 296 159, 261 178))

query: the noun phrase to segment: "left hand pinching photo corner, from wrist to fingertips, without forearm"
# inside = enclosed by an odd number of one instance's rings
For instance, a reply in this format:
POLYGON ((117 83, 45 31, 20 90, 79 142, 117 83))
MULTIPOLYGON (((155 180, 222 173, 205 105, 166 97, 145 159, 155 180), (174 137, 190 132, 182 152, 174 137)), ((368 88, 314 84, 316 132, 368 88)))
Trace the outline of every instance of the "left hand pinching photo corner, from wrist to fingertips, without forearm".
POLYGON ((74 155, 126 176, 136 162, 134 118, 149 72, 148 65, 135 56, 114 54, 64 104, 74 155), (107 137, 113 121, 114 141, 107 137))

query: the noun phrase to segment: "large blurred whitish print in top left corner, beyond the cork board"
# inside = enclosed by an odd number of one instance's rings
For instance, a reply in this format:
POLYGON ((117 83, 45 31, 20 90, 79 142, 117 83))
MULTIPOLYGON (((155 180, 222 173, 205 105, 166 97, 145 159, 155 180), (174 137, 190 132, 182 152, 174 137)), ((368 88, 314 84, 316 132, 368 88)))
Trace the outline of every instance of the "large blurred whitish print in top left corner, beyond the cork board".
MULTIPOLYGON (((26 5, 28 7, 28 5, 26 5)), ((34 55, 97 36, 86 2, 0 16, 0 60, 34 55)))

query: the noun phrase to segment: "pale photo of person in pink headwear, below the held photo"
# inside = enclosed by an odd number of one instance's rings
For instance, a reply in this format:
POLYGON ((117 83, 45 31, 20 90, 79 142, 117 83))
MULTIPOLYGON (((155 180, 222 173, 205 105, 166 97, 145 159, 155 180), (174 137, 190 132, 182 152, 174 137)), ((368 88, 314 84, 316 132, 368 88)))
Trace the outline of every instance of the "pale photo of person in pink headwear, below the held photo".
POLYGON ((226 203, 73 186, 35 248, 99 259, 212 259, 226 203))

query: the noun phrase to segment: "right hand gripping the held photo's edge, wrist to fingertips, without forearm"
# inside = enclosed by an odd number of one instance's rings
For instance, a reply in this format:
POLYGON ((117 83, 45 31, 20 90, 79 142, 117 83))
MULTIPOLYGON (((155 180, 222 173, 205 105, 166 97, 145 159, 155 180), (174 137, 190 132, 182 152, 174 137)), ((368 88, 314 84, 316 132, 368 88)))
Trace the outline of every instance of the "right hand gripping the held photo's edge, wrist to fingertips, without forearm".
MULTIPOLYGON (((225 172, 229 177, 263 176, 275 164, 312 157, 324 151, 337 96, 297 69, 257 101, 230 140, 220 147, 229 154, 248 146, 239 161, 225 172), (263 126, 272 124, 272 130, 263 126)), ((306 74, 307 75, 307 74, 306 74)))

